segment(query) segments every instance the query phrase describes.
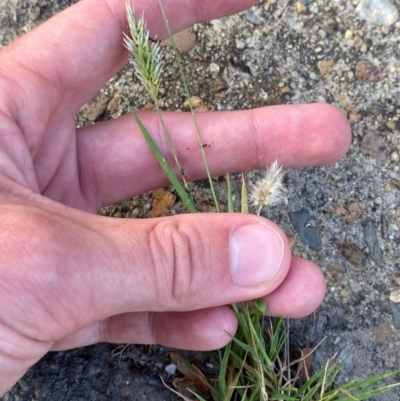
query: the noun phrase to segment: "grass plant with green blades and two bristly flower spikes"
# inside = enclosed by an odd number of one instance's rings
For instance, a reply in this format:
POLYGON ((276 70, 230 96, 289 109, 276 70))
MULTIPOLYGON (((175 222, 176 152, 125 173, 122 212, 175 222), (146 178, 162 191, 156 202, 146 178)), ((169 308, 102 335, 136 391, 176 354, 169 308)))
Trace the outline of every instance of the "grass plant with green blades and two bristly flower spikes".
MULTIPOLYGON (((183 72, 180 55, 174 44, 174 38, 171 33, 162 0, 158 0, 158 2, 173 46, 185 94, 187 99, 189 99, 197 141, 203 157, 204 166, 210 183, 210 189, 213 194, 215 208, 216 211, 219 212, 220 207, 214 189, 214 183, 208 168, 196 115, 190 100, 191 96, 183 72)), ((147 31, 144 15, 138 18, 129 2, 126 5, 126 11, 130 36, 125 36, 125 46, 129 50, 131 62, 137 78, 143 84, 150 98, 154 102, 169 150, 175 163, 175 168, 179 173, 181 173, 183 170, 179 163, 179 157, 175 151, 173 140, 168 132, 161 110, 158 106, 158 94, 163 68, 159 44, 153 40, 149 40, 149 33, 147 31)), ((157 147, 139 116, 128 103, 127 106, 143 133, 143 136, 148 142, 155 158, 170 180, 172 186, 177 191, 182 202, 185 204, 189 212, 197 212, 195 202, 189 193, 184 174, 180 174, 181 183, 178 175, 174 173, 173 167, 167 163, 165 156, 157 147)), ((267 169, 265 177, 256 183, 249 195, 245 178, 242 175, 240 212, 249 212, 249 199, 250 203, 257 207, 258 214, 260 214, 263 207, 275 205, 285 200, 285 189, 282 185, 282 179, 283 172, 278 163, 275 162, 269 169, 267 169)), ((235 212, 231 181, 231 176, 227 174, 228 211, 235 212)), ((200 382, 209 388, 210 396, 213 400, 366 400, 375 395, 382 394, 400 384, 396 383, 389 386, 374 388, 379 381, 400 373, 400 369, 398 369, 366 380, 352 380, 335 388, 335 379, 346 361, 346 359, 340 361, 336 356, 328 359, 326 363, 311 376, 308 375, 306 380, 301 380, 297 368, 298 366, 304 365, 307 355, 294 361, 290 360, 288 352, 288 330, 285 328, 284 319, 278 318, 274 321, 270 321, 268 338, 265 340, 264 316, 267 309, 265 302, 254 300, 251 303, 243 302, 240 304, 233 304, 232 308, 239 321, 239 327, 237 333, 231 335, 232 341, 223 350, 219 351, 220 370, 216 380, 210 380, 204 375, 199 374, 198 370, 194 369, 190 362, 181 355, 182 361, 185 365, 193 371, 193 374, 200 382)), ((309 372, 307 372, 307 374, 308 373, 309 372)), ((205 401, 204 397, 201 397, 193 391, 192 393, 195 399, 205 401)), ((181 397, 189 400, 189 398, 183 395, 181 395, 181 397)))

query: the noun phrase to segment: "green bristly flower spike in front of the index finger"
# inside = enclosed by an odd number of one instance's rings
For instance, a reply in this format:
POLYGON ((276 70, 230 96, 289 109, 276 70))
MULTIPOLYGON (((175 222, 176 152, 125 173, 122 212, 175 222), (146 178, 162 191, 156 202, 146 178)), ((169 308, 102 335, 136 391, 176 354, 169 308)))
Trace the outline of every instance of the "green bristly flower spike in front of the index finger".
POLYGON ((124 34, 125 47, 130 53, 136 76, 156 102, 163 67, 159 44, 149 40, 149 31, 143 14, 138 20, 129 1, 126 2, 126 14, 131 37, 124 34))

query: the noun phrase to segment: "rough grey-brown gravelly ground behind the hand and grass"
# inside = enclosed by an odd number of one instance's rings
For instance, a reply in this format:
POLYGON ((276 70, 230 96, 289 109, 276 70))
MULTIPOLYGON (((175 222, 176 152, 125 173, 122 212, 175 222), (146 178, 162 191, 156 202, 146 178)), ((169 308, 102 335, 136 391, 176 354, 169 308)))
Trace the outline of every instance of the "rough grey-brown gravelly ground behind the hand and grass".
MULTIPOLYGON (((3 0, 0 44, 73 2, 3 0)), ((313 260, 325 273, 325 301, 314 316, 290 322, 291 344, 314 346, 326 337, 315 352, 314 367, 334 352, 343 356, 353 349, 339 381, 400 366, 400 22, 390 15, 388 26, 367 21, 356 10, 359 3, 262 0, 240 15, 194 26, 192 35, 185 36, 186 45, 194 47, 183 54, 191 93, 200 98, 202 109, 328 102, 340 107, 352 124, 348 155, 332 166, 287 171, 289 202, 266 214, 288 236, 297 233, 294 253, 313 260)), ((390 3, 400 10, 400 0, 390 3)), ((381 5, 390 11, 386 2, 381 5)), ((161 105, 181 110, 185 96, 167 48, 165 59, 161 105)), ((139 109, 149 107, 130 67, 81 110, 77 124, 126 113, 122 96, 139 109)), ((248 183, 260 174, 248 172, 248 183)), ((216 182, 224 202, 225 181, 216 182)), ((193 191, 201 208, 212 210, 207 185, 194 183, 193 191)), ((173 195, 167 189, 158 196, 172 202, 173 195)), ((145 194, 100 213, 149 217, 158 213, 155 198, 157 194, 145 194)), ((179 202, 167 206, 164 214, 182 211, 179 202)), ((216 369, 212 353, 191 358, 210 374, 216 369)), ((168 350, 156 346, 99 344, 53 353, 1 399, 175 400, 159 379, 161 374, 171 383, 164 370, 169 363, 168 350)), ((376 398, 399 399, 400 390, 376 398)))

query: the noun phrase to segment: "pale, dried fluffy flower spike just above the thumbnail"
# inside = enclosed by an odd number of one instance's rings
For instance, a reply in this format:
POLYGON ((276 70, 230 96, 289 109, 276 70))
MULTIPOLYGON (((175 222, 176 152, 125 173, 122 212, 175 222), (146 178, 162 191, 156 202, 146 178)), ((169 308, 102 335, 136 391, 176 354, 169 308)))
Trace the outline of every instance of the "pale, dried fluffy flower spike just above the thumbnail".
POLYGON ((283 186, 284 172, 277 161, 274 161, 265 172, 264 178, 257 181, 250 193, 250 201, 258 207, 257 214, 264 206, 274 206, 286 200, 287 192, 283 186))

